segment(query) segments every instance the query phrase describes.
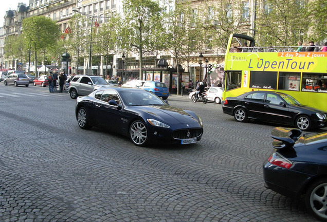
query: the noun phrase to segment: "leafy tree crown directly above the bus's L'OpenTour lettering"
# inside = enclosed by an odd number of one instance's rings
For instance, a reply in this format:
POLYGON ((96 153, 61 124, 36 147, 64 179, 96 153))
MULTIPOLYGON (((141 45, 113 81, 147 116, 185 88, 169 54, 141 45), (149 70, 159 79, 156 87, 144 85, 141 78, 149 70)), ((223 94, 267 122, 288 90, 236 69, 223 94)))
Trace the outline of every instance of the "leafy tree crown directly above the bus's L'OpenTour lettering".
POLYGON ((304 0, 267 0, 258 4, 257 42, 261 45, 289 46, 303 41, 310 24, 307 9, 304 0))

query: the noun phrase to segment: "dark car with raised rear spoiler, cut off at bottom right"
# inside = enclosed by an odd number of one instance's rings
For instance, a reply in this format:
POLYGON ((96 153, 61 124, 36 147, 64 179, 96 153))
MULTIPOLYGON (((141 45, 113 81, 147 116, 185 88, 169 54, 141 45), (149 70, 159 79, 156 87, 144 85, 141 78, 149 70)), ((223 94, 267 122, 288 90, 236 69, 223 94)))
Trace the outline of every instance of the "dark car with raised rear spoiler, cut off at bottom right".
POLYGON ((265 187, 289 197, 304 196, 306 208, 327 221, 327 132, 301 133, 283 127, 271 131, 276 150, 263 165, 265 187))

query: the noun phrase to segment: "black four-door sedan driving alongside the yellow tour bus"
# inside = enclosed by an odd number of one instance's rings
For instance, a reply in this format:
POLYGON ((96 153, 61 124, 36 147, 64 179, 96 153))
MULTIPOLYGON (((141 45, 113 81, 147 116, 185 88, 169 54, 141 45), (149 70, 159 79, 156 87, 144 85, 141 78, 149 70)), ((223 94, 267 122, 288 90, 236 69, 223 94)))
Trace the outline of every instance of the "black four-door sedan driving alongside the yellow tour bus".
POLYGON ((251 91, 238 97, 227 97, 223 112, 238 122, 256 119, 292 125, 302 131, 327 126, 327 113, 301 105, 292 96, 272 91, 251 91))

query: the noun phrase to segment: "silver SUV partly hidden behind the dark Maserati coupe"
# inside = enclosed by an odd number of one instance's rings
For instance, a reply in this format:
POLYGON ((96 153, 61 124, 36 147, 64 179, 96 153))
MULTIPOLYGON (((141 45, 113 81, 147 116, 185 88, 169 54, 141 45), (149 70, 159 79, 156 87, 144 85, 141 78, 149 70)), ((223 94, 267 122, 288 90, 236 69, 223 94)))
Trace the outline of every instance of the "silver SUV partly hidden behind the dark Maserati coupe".
POLYGON ((69 95, 71 99, 85 96, 102 87, 114 87, 99 76, 78 75, 70 80, 69 95))

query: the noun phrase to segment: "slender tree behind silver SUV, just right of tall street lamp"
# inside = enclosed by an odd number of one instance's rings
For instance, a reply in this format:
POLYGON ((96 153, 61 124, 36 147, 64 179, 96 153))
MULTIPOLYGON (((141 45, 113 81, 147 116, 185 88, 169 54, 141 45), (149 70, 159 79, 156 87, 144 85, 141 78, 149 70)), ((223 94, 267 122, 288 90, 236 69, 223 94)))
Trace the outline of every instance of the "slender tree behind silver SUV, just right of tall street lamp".
POLYGON ((105 63, 105 75, 107 73, 107 65, 113 55, 117 53, 120 48, 120 28, 122 26, 121 17, 113 14, 108 18, 107 22, 102 24, 96 32, 94 51, 103 55, 105 63))

